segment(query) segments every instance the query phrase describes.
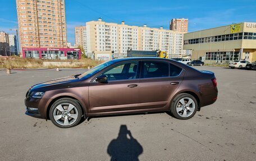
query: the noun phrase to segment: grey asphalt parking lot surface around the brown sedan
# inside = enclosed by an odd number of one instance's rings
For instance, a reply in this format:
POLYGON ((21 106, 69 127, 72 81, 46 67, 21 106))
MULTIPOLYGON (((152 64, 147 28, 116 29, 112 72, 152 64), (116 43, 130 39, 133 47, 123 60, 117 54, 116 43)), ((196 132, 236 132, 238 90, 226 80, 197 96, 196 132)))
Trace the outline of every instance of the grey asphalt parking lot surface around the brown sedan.
POLYGON ((255 160, 256 71, 195 68, 215 73, 219 94, 189 120, 133 114, 68 129, 26 116, 25 94, 38 82, 85 70, 0 71, 0 160, 255 160))

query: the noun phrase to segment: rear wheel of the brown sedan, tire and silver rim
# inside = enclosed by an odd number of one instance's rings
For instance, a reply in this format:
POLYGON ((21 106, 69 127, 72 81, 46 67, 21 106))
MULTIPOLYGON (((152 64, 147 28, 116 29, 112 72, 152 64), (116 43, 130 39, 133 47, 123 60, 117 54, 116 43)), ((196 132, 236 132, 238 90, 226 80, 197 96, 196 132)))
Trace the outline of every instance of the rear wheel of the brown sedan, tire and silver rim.
POLYGON ((193 95, 181 93, 173 99, 171 113, 177 119, 189 119, 198 109, 198 103, 193 95))

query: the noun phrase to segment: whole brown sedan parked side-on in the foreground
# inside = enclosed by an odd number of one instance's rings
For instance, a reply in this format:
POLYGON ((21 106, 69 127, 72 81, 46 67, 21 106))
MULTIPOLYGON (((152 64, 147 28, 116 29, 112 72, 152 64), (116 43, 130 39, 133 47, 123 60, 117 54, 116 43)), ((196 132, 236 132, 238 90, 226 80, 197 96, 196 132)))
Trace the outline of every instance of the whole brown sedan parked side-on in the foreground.
POLYGON ((171 59, 113 59, 81 75, 31 86, 26 114, 73 127, 82 117, 170 111, 189 119, 217 99, 213 72, 171 59))

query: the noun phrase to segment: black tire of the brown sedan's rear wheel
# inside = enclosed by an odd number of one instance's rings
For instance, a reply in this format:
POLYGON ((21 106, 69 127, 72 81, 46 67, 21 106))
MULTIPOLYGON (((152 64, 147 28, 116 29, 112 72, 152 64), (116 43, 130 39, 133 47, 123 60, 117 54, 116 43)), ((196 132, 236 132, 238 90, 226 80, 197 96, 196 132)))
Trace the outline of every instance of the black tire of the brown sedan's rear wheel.
MULTIPOLYGON (((191 107, 191 106, 190 106, 190 107, 191 107)), ((180 107, 180 108, 181 108, 181 107, 180 107)), ((191 118, 191 117, 193 117, 193 116, 195 115, 197 109, 198 109, 198 102, 197 102, 197 100, 194 98, 194 96, 191 95, 191 94, 187 94, 187 93, 181 93, 181 94, 178 94, 178 95, 173 99, 173 102, 171 103, 171 109, 170 109, 170 111, 171 111, 172 116, 174 116, 174 117, 177 118, 177 119, 189 119, 189 118, 191 118), (184 98, 185 98, 185 99, 184 99, 184 98), (188 100, 188 98, 190 98, 191 100, 194 101, 194 111, 191 112, 189 109, 187 109, 187 110, 189 111, 189 116, 188 116, 188 117, 182 117, 182 116, 181 116, 181 113, 182 113, 182 112, 184 113, 184 111, 177 112, 177 110, 178 110, 177 107, 179 107, 179 105, 180 105, 180 100, 181 100, 181 99, 184 99, 184 100, 186 101, 186 100, 188 100)), ((186 111, 186 113, 187 113, 188 111, 186 111)))

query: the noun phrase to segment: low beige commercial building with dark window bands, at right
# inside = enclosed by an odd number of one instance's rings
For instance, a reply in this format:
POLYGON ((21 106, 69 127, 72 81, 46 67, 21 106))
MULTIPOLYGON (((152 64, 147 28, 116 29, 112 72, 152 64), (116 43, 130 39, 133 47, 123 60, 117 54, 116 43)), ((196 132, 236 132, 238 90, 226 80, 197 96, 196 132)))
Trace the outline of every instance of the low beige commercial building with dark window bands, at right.
POLYGON ((204 62, 256 61, 256 23, 241 22, 184 34, 184 49, 204 62))

